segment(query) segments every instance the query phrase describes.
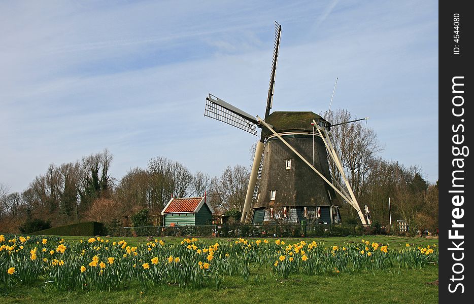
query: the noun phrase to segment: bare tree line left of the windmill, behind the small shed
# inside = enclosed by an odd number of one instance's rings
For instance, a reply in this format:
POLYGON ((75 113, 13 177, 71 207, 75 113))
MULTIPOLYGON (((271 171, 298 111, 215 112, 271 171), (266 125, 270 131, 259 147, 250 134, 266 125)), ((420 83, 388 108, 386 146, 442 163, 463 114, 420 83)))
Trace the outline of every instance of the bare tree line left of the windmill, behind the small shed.
POLYGON ((121 179, 111 175, 113 155, 109 150, 76 162, 51 164, 23 192, 9 192, 0 184, 0 231, 17 232, 26 222, 49 222, 53 226, 96 220, 124 223, 141 210, 158 215, 172 198, 207 199, 220 213, 241 210, 250 168, 227 167, 220 177, 191 173, 183 164, 156 157, 146 168, 129 170, 121 179))

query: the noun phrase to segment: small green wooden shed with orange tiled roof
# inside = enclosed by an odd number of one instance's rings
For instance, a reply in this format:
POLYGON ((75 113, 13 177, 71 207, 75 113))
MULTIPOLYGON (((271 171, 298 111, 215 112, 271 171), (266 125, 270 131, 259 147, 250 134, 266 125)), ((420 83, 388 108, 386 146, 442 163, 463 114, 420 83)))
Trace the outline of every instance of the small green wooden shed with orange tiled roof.
POLYGON ((212 223, 214 209, 206 196, 197 198, 173 198, 161 211, 164 226, 194 226, 212 223))

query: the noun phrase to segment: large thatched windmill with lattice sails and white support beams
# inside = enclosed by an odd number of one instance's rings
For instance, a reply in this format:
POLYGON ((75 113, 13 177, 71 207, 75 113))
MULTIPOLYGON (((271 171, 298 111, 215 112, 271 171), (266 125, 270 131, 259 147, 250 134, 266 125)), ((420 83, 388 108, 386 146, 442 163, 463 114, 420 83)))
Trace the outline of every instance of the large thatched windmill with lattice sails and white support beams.
POLYGON ((247 187, 241 222, 282 220, 320 223, 341 221, 336 193, 360 210, 332 141, 329 122, 312 111, 274 111, 275 73, 282 27, 275 22, 275 47, 263 119, 209 94, 204 116, 224 122, 260 140, 247 187), (346 188, 332 179, 327 156, 336 163, 346 188))

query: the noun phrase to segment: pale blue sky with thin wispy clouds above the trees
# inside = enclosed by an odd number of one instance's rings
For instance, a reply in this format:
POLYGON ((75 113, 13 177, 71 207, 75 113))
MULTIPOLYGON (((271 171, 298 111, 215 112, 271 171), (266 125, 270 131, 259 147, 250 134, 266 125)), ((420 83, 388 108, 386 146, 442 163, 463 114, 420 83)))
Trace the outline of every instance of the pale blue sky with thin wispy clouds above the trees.
POLYGON ((0 3, 0 182, 108 148, 116 178, 156 156, 250 165, 255 137, 205 118, 208 92, 273 110, 370 117, 382 157, 438 178, 438 10, 429 1, 0 3))

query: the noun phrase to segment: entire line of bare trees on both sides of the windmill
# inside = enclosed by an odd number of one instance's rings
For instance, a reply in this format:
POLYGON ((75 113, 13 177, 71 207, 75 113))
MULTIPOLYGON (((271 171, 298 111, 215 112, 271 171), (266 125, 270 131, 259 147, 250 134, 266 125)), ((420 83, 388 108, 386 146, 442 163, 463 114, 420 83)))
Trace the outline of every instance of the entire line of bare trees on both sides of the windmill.
MULTIPOLYGON (((345 109, 322 116, 332 124, 354 119, 345 109)), ((426 182, 420 167, 381 158, 376 132, 361 122, 332 127, 331 133, 359 205, 369 207, 372 221, 388 224, 391 214, 392 224, 403 219, 414 229, 437 227, 437 184, 426 182)), ((253 153, 251 148, 252 157, 253 153)), ((51 164, 23 192, 11 193, 0 183, 0 231, 17 232, 25 222, 38 219, 53 226, 83 220, 123 223, 125 216, 143 209, 160 214, 171 197, 198 197, 205 191, 215 210, 235 214, 242 210, 250 176, 249 166, 229 166, 221 176, 210 176, 155 157, 146 168, 131 169, 116 179, 110 172, 112 163, 113 155, 105 149, 75 162, 51 164)), ((332 179, 344 185, 331 159, 329 167, 332 179)), ((343 222, 357 223, 355 210, 339 200, 343 222)))

